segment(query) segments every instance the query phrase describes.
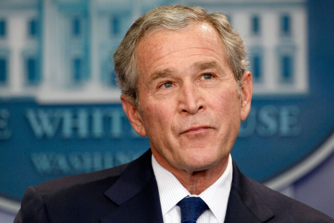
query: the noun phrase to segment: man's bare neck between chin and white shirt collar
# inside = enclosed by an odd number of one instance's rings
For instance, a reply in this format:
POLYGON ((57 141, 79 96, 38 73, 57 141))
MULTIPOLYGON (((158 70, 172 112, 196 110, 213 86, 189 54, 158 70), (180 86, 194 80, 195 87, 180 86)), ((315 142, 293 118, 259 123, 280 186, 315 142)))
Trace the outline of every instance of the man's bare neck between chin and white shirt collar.
POLYGON ((157 162, 163 166, 165 169, 170 171, 177 180, 189 191, 190 194, 200 194, 205 189, 210 187, 213 183, 215 183, 219 177, 224 173, 229 154, 219 163, 213 165, 210 168, 203 169, 200 171, 191 171, 185 170, 182 168, 176 168, 169 164, 165 159, 161 159, 162 157, 156 155, 153 152, 153 156, 157 162))

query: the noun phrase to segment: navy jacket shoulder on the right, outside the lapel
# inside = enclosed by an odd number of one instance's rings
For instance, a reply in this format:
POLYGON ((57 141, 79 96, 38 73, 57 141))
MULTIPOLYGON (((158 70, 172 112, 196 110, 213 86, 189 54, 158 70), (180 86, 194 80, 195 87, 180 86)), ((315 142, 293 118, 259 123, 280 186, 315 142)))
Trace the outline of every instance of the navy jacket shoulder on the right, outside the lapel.
POLYGON ((329 216, 299 201, 274 191, 263 184, 245 177, 256 194, 272 210, 277 222, 331 222, 329 216))

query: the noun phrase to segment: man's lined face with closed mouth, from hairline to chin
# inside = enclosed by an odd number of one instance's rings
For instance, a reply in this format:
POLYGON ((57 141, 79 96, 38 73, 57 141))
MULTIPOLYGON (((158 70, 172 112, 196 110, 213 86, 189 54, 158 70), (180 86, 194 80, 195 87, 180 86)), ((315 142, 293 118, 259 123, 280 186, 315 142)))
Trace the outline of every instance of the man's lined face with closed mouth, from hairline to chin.
POLYGON ((217 31, 195 23, 149 34, 138 44, 137 65, 141 111, 126 113, 157 161, 190 172, 226 161, 249 106, 238 98, 217 31))

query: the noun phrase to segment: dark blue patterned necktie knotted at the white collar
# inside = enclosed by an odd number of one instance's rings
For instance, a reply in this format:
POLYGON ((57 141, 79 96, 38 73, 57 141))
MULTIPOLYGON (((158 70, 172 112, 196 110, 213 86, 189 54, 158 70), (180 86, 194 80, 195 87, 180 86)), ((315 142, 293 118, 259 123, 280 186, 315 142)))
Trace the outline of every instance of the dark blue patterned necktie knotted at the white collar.
POLYGON ((196 223, 197 218, 209 207, 200 197, 188 196, 177 203, 181 208, 181 223, 196 223))

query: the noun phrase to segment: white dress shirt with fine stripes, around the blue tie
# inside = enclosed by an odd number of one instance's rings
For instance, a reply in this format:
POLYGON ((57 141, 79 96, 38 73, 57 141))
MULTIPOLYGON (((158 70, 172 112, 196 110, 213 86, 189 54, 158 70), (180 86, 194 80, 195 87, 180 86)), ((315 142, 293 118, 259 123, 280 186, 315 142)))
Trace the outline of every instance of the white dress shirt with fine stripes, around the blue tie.
POLYGON ((199 195, 190 194, 171 172, 157 162, 153 155, 152 167, 158 184, 164 223, 181 222, 181 210, 176 204, 186 196, 199 196, 209 207, 199 216, 197 223, 224 222, 233 175, 230 155, 223 174, 199 195))

